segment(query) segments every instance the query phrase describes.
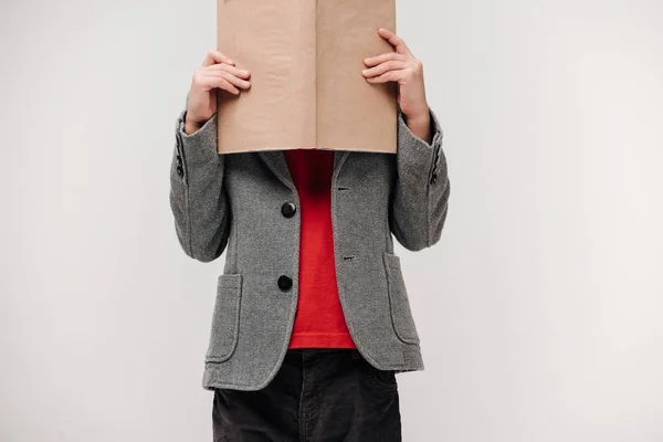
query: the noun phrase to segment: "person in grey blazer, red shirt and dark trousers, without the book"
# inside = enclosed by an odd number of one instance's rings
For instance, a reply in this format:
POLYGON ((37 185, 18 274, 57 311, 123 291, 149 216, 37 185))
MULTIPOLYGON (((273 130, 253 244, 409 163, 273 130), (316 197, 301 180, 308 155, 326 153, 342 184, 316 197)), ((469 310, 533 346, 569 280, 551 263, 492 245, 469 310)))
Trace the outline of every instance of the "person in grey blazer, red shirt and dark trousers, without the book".
POLYGON ((217 92, 241 94, 251 73, 210 51, 193 75, 170 204, 189 256, 228 250, 203 375, 217 442, 401 440, 394 375, 423 361, 392 235, 411 251, 435 244, 450 181, 422 64, 378 33, 396 51, 361 74, 398 83, 396 155, 219 155, 217 92))

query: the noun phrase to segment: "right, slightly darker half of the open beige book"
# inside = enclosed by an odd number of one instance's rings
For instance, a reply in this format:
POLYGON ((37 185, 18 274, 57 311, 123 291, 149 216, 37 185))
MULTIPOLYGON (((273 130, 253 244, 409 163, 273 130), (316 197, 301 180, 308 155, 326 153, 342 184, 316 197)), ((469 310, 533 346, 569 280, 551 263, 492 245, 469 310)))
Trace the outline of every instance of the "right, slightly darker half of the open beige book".
POLYGON ((396 152, 397 85, 371 84, 364 59, 394 52, 396 0, 317 1, 317 146, 396 152))

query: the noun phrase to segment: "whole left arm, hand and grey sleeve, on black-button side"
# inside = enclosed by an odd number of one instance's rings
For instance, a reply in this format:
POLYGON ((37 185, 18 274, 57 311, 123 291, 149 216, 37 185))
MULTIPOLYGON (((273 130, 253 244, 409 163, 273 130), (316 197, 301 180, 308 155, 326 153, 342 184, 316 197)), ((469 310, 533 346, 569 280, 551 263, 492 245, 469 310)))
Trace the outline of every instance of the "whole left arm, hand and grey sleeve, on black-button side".
POLYGON ((223 186, 225 159, 218 152, 217 91, 233 95, 251 86, 249 71, 211 50, 193 73, 186 109, 177 119, 170 166, 170 209, 185 253, 210 262, 228 245, 230 203, 223 186))

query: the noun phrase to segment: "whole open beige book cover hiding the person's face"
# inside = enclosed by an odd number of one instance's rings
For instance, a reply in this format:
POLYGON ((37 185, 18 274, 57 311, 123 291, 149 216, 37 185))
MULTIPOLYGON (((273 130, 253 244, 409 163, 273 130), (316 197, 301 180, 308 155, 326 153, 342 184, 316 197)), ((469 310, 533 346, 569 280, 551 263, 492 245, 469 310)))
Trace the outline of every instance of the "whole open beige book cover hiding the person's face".
POLYGON ((251 72, 220 91, 219 152, 322 148, 396 152, 397 85, 364 59, 393 48, 396 0, 218 0, 217 46, 251 72))

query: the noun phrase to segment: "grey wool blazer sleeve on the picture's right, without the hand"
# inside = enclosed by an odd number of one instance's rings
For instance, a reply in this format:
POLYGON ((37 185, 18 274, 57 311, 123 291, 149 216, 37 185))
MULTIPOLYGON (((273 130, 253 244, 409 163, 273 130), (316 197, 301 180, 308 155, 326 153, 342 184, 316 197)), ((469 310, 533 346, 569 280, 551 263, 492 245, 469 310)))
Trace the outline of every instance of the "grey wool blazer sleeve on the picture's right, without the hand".
POLYGON ((442 128, 433 110, 432 141, 415 136, 398 109, 397 178, 389 207, 389 228, 406 249, 419 251, 440 241, 451 185, 442 150, 442 128))

